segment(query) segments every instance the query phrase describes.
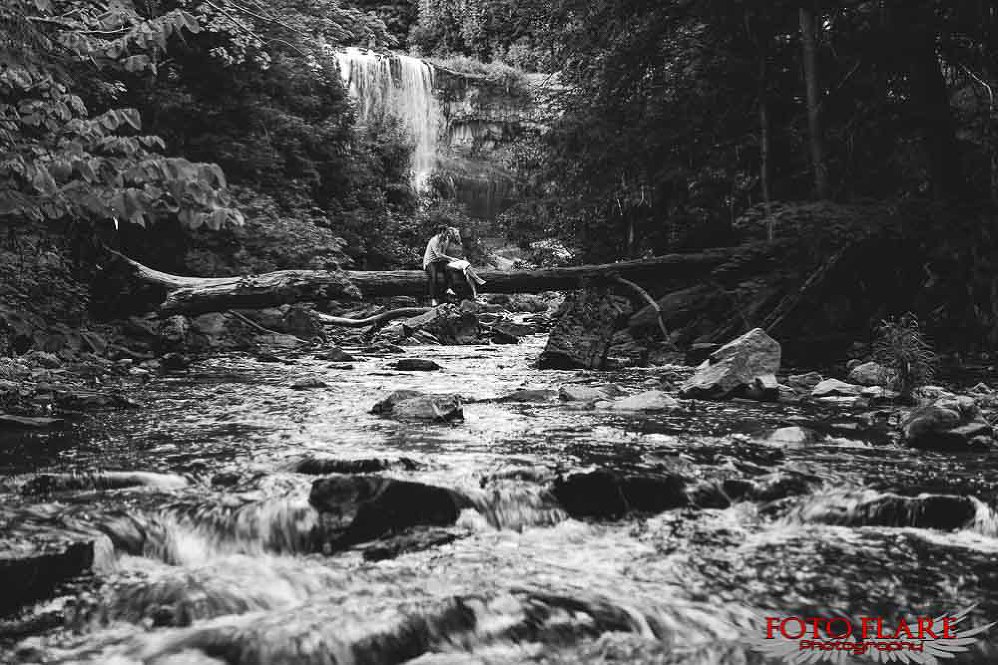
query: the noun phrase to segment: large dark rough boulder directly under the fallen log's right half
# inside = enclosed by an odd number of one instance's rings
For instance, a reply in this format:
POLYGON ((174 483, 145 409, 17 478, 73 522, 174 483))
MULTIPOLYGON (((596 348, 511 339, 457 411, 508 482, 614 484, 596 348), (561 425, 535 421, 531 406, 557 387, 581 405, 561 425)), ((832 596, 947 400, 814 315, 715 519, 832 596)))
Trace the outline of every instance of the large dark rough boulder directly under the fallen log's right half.
POLYGON ((579 291, 565 302, 537 360, 538 369, 600 369, 630 303, 605 289, 579 291))

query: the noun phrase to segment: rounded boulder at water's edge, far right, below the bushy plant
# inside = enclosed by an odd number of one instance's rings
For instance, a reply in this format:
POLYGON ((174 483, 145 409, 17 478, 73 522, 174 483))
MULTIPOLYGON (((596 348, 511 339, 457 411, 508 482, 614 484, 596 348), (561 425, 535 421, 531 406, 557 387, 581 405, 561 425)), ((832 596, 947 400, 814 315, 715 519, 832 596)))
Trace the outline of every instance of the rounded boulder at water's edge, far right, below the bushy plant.
POLYGON ((995 444, 994 429, 972 397, 943 397, 922 406, 901 423, 901 436, 912 448, 943 452, 982 451, 995 444))

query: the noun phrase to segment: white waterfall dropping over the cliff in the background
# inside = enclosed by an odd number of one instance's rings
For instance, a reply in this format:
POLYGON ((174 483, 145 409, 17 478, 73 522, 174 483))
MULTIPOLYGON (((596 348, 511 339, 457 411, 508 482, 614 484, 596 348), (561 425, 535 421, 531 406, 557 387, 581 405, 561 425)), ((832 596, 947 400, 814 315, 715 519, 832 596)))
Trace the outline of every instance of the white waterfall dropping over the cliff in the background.
POLYGON ((370 124, 391 114, 415 141, 413 185, 425 187, 436 165, 440 109, 433 96, 433 67, 418 58, 361 48, 335 52, 340 76, 357 102, 360 121, 370 124))

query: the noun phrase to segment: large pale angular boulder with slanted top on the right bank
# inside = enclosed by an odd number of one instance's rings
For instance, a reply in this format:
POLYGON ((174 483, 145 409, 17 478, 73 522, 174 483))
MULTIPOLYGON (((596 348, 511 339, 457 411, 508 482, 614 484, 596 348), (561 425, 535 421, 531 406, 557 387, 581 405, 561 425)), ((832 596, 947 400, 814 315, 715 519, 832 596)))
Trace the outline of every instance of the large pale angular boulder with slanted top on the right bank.
POLYGON ((780 345, 761 328, 751 330, 710 354, 680 391, 683 397, 723 399, 760 383, 768 386, 780 369, 780 345), (758 381, 757 381, 758 380, 758 381))

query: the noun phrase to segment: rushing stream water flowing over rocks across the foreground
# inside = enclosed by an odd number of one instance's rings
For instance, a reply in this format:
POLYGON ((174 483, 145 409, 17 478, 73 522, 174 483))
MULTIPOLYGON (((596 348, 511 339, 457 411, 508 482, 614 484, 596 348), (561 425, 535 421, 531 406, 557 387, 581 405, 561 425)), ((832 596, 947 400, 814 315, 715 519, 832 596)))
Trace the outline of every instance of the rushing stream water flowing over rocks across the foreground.
MULTIPOLYGON (((907 451, 885 414, 841 408, 698 402, 627 415, 491 400, 569 382, 638 392, 682 375, 541 372, 529 364, 542 342, 410 348, 443 366, 429 373, 377 355, 353 369, 219 357, 137 391, 139 411, 6 454, 8 524, 106 540, 93 575, 34 611, 55 619, 8 635, 0 660, 755 663, 745 636, 761 634, 766 611, 938 616, 976 604, 974 623, 998 619, 995 455, 907 451), (291 388, 312 376, 329 387, 291 388), (370 413, 397 389, 475 401, 449 424, 370 413), (827 437, 768 439, 786 425, 827 437), (32 480, 95 469, 153 473, 48 492, 32 480), (469 502, 413 551, 379 555, 397 541, 382 534, 324 553, 309 492, 329 469, 469 502), (572 518, 552 483, 594 469, 680 477, 691 500, 572 518)), ((994 632, 959 662, 998 662, 994 632)))

